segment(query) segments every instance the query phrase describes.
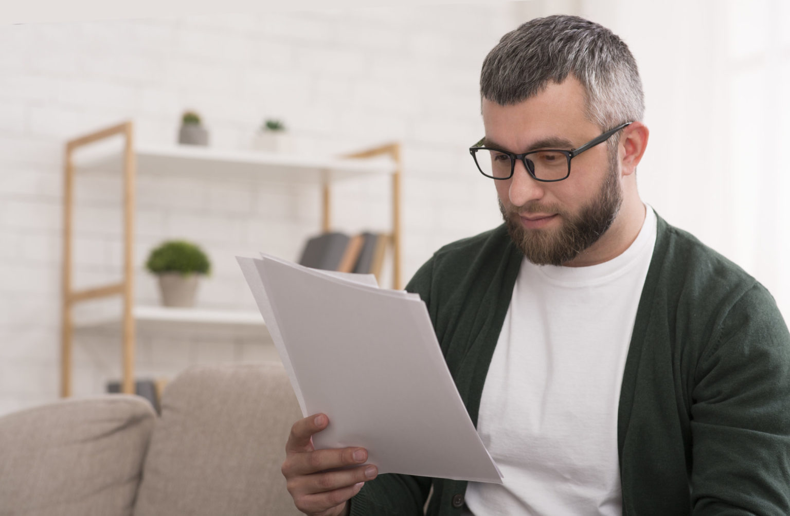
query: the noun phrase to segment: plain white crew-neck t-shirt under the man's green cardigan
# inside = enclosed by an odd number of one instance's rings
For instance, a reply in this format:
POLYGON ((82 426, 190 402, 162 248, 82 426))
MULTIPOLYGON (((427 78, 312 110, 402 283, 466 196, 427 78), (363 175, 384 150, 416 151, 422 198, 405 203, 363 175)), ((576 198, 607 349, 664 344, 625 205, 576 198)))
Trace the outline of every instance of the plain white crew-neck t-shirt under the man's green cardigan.
POLYGON ((475 516, 623 513, 617 413, 656 215, 590 267, 521 263, 488 369, 477 432, 504 484, 469 482, 475 516))

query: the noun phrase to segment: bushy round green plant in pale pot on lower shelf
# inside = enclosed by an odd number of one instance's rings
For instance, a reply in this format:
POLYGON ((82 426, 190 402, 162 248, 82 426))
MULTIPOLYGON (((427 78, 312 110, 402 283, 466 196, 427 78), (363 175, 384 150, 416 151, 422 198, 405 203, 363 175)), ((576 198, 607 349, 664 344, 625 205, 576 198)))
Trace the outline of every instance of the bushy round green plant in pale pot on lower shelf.
POLYGON ((189 241, 165 241, 151 251, 145 267, 159 277, 164 306, 195 304, 198 276, 208 275, 211 264, 198 245, 189 241))

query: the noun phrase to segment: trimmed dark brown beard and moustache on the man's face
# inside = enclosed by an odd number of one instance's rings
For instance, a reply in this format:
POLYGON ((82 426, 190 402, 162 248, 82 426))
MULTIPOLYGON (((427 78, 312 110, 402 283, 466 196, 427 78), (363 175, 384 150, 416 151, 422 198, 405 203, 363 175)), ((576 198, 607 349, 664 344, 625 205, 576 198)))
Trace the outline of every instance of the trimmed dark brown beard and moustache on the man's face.
MULTIPOLYGON (((623 193, 617 182, 617 163, 609 163, 609 172, 600 192, 591 203, 574 216, 566 211, 551 209, 562 218, 559 230, 526 230, 521 225, 518 211, 529 212, 529 208, 521 210, 505 210, 499 201, 499 211, 505 220, 510 239, 521 249, 527 260, 536 265, 562 265, 573 260, 582 251, 603 236, 612 222, 615 222, 620 206, 623 204, 623 193)), ((545 208, 533 207, 534 212, 545 212, 545 208)))

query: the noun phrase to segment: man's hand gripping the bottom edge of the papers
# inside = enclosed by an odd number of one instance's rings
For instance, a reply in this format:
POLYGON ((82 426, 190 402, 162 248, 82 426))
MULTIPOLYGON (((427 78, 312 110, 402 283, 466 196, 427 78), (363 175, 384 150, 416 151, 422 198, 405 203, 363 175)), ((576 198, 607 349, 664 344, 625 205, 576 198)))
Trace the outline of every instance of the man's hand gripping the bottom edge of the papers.
POLYGON ((285 445, 282 472, 296 508, 312 516, 348 514, 348 499, 378 475, 364 465, 367 450, 359 447, 316 450, 311 436, 329 424, 326 414, 296 421, 285 445), (359 466, 362 465, 362 466, 359 466), (348 466, 359 466, 348 469, 348 466))

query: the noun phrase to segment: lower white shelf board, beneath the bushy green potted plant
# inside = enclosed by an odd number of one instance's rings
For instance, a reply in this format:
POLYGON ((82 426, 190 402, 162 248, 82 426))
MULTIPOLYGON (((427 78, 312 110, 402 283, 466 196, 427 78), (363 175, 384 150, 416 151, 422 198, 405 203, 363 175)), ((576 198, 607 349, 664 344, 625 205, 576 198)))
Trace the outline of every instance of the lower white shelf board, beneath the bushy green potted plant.
MULTIPOLYGON (((76 314, 75 314, 76 315, 76 314)), ((265 323, 260 312, 252 310, 216 310, 209 308, 171 308, 164 306, 135 306, 132 308, 135 327, 149 330, 228 330, 265 335, 265 323)), ((121 324, 120 314, 98 314, 75 317, 78 329, 111 328, 121 324)))

